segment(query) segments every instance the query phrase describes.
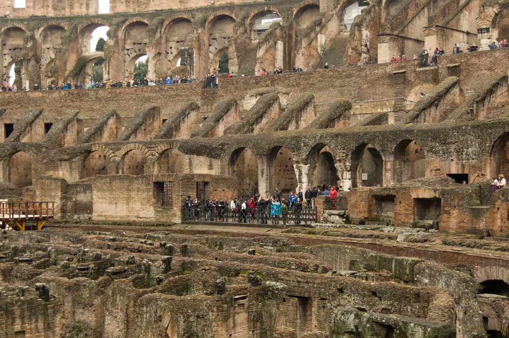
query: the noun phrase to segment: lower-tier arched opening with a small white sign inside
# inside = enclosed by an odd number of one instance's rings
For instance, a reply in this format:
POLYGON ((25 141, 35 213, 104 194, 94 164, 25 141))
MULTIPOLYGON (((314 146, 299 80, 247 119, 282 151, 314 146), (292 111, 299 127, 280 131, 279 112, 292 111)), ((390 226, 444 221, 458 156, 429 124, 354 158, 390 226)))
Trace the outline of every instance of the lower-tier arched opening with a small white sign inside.
POLYGON ((352 188, 383 185, 383 158, 371 144, 358 145, 352 154, 352 188))

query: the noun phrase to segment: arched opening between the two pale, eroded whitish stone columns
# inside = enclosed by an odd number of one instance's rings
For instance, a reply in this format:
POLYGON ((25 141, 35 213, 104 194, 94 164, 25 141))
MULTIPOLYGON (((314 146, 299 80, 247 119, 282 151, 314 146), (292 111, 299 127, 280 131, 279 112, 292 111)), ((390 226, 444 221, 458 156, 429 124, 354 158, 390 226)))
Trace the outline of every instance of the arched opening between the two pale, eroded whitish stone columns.
POLYGON ((326 185, 328 187, 337 185, 337 169, 334 166, 332 152, 325 144, 317 144, 310 151, 308 158, 309 184, 316 186, 326 185))

